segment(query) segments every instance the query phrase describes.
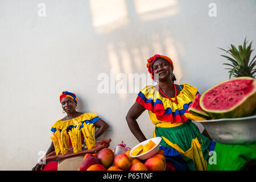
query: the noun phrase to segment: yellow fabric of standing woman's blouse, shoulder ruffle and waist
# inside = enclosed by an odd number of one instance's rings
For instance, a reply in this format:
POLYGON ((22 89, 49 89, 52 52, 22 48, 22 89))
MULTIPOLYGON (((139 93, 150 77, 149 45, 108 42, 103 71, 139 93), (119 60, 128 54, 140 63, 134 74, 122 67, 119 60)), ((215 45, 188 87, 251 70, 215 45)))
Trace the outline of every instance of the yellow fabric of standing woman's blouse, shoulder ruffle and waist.
MULTIPOLYGON (((143 89, 141 89, 141 92, 144 94, 144 96, 147 99, 152 100, 153 102, 157 102, 156 100, 161 100, 163 102, 164 110, 166 110, 167 108, 171 108, 172 112, 174 113, 176 110, 184 109, 185 104, 189 104, 190 102, 193 102, 194 98, 196 97, 197 88, 189 84, 184 84, 184 88, 177 95, 177 102, 178 102, 177 104, 170 101, 168 98, 162 97, 160 93, 152 85, 145 86, 143 89)), ((166 122, 166 121, 159 121, 156 118, 156 115, 152 113, 152 111, 150 110, 148 110, 148 114, 154 125, 158 123, 166 122)), ((162 127, 162 126, 159 126, 159 127, 162 127)))

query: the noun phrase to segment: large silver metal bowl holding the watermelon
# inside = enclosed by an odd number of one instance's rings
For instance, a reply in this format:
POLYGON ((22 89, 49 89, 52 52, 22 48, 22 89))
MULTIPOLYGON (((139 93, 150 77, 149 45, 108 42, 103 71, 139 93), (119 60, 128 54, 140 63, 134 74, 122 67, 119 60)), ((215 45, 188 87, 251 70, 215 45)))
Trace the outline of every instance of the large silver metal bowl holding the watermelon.
POLYGON ((193 122, 200 122, 216 142, 226 144, 256 143, 256 115, 193 122))

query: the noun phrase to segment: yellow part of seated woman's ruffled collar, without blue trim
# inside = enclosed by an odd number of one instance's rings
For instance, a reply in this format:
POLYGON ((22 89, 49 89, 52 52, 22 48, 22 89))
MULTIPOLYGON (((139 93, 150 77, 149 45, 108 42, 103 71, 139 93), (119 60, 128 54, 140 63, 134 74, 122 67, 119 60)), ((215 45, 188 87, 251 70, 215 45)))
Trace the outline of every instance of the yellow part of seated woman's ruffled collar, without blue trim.
POLYGON ((67 129, 68 126, 76 126, 83 121, 91 120, 96 117, 98 117, 98 115, 94 114, 94 113, 83 113, 79 117, 76 117, 73 119, 69 119, 69 120, 65 120, 65 121, 60 119, 60 120, 56 121, 52 125, 52 127, 64 130, 64 129, 67 129))

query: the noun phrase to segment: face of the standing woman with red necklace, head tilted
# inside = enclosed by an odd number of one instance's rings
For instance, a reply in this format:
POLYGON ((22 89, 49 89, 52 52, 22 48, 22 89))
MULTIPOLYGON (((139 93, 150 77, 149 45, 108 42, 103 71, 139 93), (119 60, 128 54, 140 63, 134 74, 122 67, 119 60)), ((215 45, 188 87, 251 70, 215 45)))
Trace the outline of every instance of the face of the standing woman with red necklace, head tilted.
POLYGON ((159 81, 171 79, 172 68, 167 60, 159 58, 152 65, 154 75, 158 73, 159 81))

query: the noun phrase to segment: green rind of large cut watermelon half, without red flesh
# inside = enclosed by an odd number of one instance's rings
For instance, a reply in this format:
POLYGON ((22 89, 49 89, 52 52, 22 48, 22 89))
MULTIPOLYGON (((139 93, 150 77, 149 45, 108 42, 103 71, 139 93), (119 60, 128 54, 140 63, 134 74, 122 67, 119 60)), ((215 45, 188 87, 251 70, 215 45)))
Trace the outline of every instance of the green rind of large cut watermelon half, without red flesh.
POLYGON ((254 78, 251 78, 251 77, 238 77, 238 78, 233 78, 231 80, 222 81, 219 84, 214 85, 212 88, 206 90, 202 94, 202 96, 200 97, 200 106, 206 113, 210 115, 210 117, 215 119, 240 118, 240 117, 247 117, 250 115, 254 115, 256 113, 256 81, 254 78), (224 82, 232 81, 235 79, 241 79, 241 78, 253 80, 252 84, 254 85, 254 89, 251 90, 249 94, 244 96, 244 98, 238 104, 236 104, 233 107, 230 107, 229 110, 209 110, 204 106, 203 98, 205 93, 209 92, 210 90, 212 90, 213 88, 215 88, 216 86, 224 82))

